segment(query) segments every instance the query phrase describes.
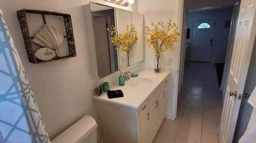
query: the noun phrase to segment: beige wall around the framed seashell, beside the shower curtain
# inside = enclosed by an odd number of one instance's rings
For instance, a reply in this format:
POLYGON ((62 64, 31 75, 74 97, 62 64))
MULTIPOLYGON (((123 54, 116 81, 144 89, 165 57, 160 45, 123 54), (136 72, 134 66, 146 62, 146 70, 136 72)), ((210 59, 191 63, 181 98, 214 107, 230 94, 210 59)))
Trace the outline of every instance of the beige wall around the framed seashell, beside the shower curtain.
MULTIPOLYGON (((137 11, 136 1, 128 7, 110 4, 103 0, 91 1, 137 11)), ((119 73, 98 80, 95 50, 88 45, 88 38, 92 35, 86 32, 83 11, 85 4, 88 4, 88 0, 0 0, 5 21, 20 54, 51 139, 84 115, 92 115, 96 118, 91 89, 102 81, 118 80, 119 73), (16 15, 16 11, 23 8, 71 14, 77 56, 44 64, 29 63, 16 15)))

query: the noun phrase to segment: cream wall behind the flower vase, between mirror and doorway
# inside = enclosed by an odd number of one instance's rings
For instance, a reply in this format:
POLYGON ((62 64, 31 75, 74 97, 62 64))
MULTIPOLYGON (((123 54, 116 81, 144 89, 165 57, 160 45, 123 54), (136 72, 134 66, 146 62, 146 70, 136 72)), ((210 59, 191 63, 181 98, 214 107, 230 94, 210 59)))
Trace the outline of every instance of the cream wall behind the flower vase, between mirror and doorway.
MULTIPOLYGON (((164 24, 168 19, 178 22, 178 29, 180 30, 180 21, 182 20, 183 0, 138 0, 138 12, 144 14, 144 25, 150 26, 150 22, 162 21, 164 24), (179 13, 178 13, 179 11, 179 13)), ((153 70, 154 66, 154 50, 148 49, 148 44, 144 44, 145 53, 145 68, 153 70)), ((176 113, 176 106, 174 102, 178 94, 178 69, 179 69, 179 58, 180 58, 180 42, 177 42, 174 50, 164 52, 163 56, 160 57, 161 62, 164 64, 166 70, 171 72, 171 86, 170 86, 170 100, 168 101, 168 113, 176 113)), ((175 119, 175 117, 174 117, 175 119)))

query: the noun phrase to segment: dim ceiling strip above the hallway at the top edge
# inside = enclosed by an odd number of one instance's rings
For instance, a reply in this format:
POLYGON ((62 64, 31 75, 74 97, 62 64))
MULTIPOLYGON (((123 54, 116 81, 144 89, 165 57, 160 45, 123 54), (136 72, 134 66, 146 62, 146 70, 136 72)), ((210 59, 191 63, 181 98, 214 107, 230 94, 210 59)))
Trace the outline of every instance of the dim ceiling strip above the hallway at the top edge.
POLYGON ((191 9, 234 5, 238 0, 187 0, 186 7, 191 9))

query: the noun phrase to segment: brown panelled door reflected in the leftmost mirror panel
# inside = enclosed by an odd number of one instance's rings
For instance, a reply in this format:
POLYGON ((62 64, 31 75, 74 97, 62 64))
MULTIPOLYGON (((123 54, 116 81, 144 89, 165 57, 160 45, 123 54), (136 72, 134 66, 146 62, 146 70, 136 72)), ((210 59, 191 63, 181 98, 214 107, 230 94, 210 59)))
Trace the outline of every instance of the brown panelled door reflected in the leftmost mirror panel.
POLYGON ((93 16, 93 26, 99 77, 105 77, 111 73, 106 18, 93 16))

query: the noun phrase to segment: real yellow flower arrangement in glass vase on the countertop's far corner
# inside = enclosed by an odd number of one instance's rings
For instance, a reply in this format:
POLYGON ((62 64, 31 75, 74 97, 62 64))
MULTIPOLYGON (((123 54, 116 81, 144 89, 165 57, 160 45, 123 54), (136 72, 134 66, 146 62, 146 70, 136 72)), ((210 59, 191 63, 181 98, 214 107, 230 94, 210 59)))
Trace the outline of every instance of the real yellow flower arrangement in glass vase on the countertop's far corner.
POLYGON ((175 22, 172 22, 172 20, 168 20, 165 28, 163 25, 163 22, 158 22, 157 24, 151 22, 151 28, 148 26, 145 27, 145 35, 149 36, 149 38, 146 39, 146 42, 148 42, 148 48, 153 47, 156 53, 156 73, 160 72, 160 53, 174 49, 174 43, 178 42, 178 36, 181 35, 180 32, 177 32, 177 25, 175 22), (161 29, 160 26, 162 27, 161 29))

